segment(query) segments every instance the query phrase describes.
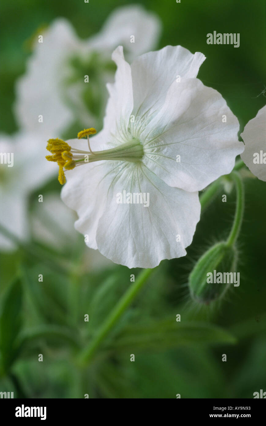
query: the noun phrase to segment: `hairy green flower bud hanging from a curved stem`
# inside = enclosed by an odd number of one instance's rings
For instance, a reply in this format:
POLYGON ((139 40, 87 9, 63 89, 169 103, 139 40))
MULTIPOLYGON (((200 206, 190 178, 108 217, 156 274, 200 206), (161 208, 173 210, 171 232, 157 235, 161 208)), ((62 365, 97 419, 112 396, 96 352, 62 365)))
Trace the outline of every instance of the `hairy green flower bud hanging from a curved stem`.
POLYGON ((228 273, 234 271, 236 258, 235 247, 227 245, 226 242, 218 242, 207 250, 189 275, 192 298, 197 302, 208 304, 222 296, 230 285, 227 282, 228 273), (219 279, 216 279, 217 276, 219 279))

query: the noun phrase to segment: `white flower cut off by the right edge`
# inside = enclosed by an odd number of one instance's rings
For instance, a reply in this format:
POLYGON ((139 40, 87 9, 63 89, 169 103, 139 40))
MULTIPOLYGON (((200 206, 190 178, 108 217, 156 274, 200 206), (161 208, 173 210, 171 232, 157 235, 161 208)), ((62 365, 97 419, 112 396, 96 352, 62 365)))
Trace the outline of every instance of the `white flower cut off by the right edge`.
POLYGON ((245 143, 242 160, 257 178, 266 182, 266 105, 246 124, 241 136, 245 143))

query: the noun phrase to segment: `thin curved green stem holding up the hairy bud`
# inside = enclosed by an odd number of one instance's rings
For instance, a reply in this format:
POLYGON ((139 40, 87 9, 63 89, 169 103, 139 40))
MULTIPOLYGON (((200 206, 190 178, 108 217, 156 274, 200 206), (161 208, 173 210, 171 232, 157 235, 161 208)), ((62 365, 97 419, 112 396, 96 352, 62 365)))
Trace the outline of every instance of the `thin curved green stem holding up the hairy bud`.
POLYGON ((240 232, 240 228, 243 221, 243 213, 244 213, 244 185, 242 179, 239 174, 235 171, 231 173, 232 178, 235 180, 236 191, 237 191, 237 204, 235 209, 235 219, 227 239, 227 245, 233 246, 237 240, 238 234, 240 232))

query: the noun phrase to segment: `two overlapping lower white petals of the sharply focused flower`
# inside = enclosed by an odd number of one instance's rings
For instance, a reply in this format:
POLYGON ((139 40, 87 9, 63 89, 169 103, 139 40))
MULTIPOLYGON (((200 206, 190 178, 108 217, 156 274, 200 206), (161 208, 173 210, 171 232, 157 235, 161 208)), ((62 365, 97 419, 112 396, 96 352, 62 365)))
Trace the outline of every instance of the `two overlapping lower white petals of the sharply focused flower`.
POLYGON ((66 176, 61 197, 77 211, 75 228, 89 247, 129 268, 186 255, 200 219, 197 193, 169 187, 140 163, 100 161, 66 176), (149 207, 117 204, 124 190, 149 193, 149 207))

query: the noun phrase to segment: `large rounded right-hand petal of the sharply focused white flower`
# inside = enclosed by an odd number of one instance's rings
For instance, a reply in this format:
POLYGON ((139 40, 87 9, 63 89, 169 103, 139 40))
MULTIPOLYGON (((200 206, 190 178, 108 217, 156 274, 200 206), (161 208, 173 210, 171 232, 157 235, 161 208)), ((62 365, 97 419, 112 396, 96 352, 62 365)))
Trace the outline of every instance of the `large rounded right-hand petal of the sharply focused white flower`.
POLYGON ((163 107, 147 122, 137 133, 143 162, 168 185, 186 191, 202 190, 230 173, 244 149, 226 101, 196 78, 174 82, 163 107))

